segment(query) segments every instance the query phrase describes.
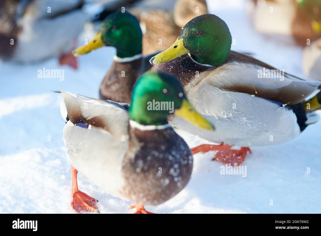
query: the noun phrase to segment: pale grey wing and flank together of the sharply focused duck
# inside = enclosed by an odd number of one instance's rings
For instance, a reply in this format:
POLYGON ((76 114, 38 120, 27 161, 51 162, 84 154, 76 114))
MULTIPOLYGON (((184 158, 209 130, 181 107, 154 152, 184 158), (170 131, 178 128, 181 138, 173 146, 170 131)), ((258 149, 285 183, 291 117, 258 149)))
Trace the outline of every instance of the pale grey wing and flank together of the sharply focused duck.
POLYGON ((175 117, 171 124, 201 138, 237 146, 264 146, 287 142, 300 134, 297 117, 291 109, 262 97, 233 92, 233 86, 249 84, 260 93, 289 96, 302 101, 320 85, 286 74, 284 78, 258 78, 262 67, 232 61, 215 71, 205 71, 185 87, 188 101, 214 125, 214 132, 204 131, 175 117), (234 73, 231 73, 234 72, 234 73), (219 88, 226 89, 219 89, 219 88), (231 91, 229 91, 229 88, 231 91), (280 95, 280 91, 284 92, 280 95))

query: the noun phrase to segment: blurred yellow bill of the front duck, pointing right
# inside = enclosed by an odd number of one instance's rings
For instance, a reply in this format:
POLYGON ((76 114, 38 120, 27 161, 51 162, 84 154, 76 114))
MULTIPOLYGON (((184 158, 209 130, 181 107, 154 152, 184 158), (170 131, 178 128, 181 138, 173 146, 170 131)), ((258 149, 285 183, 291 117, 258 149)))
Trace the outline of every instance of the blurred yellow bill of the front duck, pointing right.
POLYGON ((181 108, 174 111, 174 114, 187 120, 196 127, 214 130, 213 125, 207 119, 198 114, 186 99, 183 100, 181 108))

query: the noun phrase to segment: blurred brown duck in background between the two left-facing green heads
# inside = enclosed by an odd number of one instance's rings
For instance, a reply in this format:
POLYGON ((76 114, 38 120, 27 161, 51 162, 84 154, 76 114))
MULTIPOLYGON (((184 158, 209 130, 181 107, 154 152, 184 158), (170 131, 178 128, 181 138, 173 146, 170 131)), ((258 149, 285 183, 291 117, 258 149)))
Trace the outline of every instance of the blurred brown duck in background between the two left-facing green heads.
MULTIPOLYGON (((162 6, 168 4, 173 4, 173 1, 162 3, 162 6)), ((134 4, 130 9, 143 29, 143 55, 168 48, 187 22, 207 13, 205 0, 177 0, 174 10, 159 7, 154 6, 153 2, 146 2, 143 5, 134 4)))

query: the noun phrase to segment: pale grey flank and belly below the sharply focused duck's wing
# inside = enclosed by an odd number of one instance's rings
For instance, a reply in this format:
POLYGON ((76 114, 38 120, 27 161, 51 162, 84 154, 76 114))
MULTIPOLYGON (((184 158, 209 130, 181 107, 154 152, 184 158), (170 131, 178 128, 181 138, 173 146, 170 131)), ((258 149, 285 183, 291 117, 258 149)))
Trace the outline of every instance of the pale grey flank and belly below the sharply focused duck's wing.
POLYGON ((215 130, 204 131, 177 117, 171 124, 211 142, 264 146, 280 144, 300 134, 292 110, 259 97, 225 92, 206 85, 195 87, 187 98, 195 110, 214 125, 215 130), (236 109, 232 108, 233 104, 236 109))

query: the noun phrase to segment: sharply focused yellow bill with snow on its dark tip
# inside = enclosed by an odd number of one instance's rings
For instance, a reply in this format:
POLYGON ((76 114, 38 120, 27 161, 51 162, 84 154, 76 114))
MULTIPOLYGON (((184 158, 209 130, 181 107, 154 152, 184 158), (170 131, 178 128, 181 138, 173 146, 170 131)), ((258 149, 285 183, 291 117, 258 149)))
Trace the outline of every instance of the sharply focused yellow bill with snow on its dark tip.
POLYGON ((178 38, 172 46, 157 54, 155 57, 152 57, 150 60, 151 64, 168 62, 176 57, 189 53, 189 50, 184 47, 183 39, 178 38))

